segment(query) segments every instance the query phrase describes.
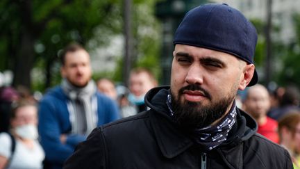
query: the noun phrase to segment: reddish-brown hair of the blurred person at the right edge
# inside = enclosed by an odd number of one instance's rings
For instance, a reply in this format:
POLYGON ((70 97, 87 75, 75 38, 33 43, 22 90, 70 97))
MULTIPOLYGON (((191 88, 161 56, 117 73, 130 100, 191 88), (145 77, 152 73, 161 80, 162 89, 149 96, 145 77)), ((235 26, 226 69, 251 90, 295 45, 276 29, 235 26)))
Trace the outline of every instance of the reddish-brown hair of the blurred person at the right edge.
POLYGON ((284 115, 283 118, 278 120, 278 134, 279 138, 282 139, 281 136, 281 129, 286 127, 289 131, 293 133, 296 132, 297 124, 300 122, 300 112, 299 111, 292 111, 287 115, 284 115))

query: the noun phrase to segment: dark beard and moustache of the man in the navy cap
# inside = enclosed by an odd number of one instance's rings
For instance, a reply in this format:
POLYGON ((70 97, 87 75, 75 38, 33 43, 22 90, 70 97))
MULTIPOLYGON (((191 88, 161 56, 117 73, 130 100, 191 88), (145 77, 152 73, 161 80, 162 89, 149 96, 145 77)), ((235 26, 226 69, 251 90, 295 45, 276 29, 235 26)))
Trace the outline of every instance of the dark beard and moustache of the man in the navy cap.
POLYGON ((188 131, 208 127, 219 118, 222 118, 226 113, 228 106, 230 106, 233 99, 235 99, 236 93, 237 89, 233 86, 231 92, 228 92, 228 95, 221 99, 213 100, 209 92, 201 88, 201 86, 185 86, 178 91, 178 98, 171 92, 174 118, 183 129, 188 131), (182 97, 184 90, 200 90, 207 99, 210 100, 210 104, 203 105, 202 102, 189 102, 186 100, 182 103, 180 98, 182 97))

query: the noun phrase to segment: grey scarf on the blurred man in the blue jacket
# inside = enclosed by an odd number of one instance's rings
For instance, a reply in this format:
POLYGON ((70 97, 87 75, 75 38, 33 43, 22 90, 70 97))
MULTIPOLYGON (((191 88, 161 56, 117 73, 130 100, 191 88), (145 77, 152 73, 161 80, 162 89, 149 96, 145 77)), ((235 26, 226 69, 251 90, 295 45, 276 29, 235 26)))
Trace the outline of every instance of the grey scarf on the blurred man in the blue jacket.
POLYGON ((97 92, 94 81, 89 81, 87 86, 76 88, 67 79, 63 79, 63 92, 69 98, 67 108, 69 120, 72 124, 72 134, 90 134, 97 127, 97 92))

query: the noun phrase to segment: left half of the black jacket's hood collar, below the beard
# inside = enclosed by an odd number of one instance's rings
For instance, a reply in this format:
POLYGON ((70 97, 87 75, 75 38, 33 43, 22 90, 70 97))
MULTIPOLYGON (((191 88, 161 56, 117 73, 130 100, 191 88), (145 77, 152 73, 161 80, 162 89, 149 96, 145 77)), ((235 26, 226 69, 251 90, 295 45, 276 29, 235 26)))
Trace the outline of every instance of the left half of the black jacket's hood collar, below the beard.
POLYGON ((172 159, 185 152, 193 142, 168 115, 168 90, 169 86, 151 89, 146 95, 145 103, 153 110, 149 114, 158 147, 166 158, 172 159))

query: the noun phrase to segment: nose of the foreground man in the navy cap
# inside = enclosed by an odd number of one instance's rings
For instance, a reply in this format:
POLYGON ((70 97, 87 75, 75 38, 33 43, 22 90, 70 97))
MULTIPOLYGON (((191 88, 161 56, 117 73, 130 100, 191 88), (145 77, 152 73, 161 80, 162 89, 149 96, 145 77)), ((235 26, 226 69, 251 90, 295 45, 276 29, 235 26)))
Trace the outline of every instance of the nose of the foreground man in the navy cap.
POLYGON ((203 83, 203 69, 200 65, 194 64, 190 66, 188 74, 185 77, 185 82, 198 85, 203 83))

